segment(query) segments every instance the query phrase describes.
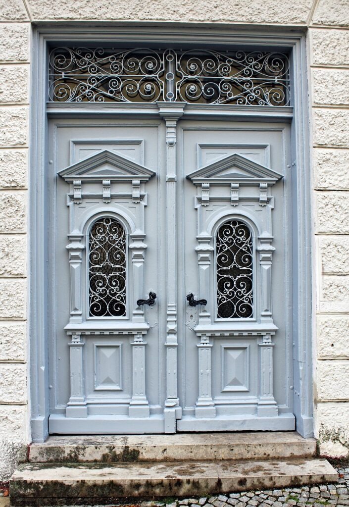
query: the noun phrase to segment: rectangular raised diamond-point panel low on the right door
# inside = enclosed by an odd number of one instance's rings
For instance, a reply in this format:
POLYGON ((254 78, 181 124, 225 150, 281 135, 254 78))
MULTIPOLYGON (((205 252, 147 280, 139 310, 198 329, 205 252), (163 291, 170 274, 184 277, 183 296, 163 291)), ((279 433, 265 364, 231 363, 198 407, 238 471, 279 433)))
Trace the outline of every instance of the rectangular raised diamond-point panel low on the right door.
POLYGON ((222 392, 249 391, 249 346, 222 345, 222 392))

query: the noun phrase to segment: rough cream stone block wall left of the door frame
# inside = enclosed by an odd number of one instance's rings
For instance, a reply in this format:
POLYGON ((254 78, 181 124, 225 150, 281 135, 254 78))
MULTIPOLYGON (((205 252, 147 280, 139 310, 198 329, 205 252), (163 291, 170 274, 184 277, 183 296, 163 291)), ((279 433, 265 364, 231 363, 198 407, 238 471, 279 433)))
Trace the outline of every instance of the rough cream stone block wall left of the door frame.
POLYGON ((0 481, 29 441, 27 198, 30 22, 0 2, 0 481))

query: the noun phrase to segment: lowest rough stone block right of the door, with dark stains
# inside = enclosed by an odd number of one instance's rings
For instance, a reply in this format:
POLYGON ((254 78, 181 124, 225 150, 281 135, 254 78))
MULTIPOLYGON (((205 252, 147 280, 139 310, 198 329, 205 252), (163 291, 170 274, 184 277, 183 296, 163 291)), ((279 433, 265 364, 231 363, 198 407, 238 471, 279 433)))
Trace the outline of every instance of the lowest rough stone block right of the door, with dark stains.
POLYGON ((349 456, 349 403, 319 403, 317 437, 323 456, 349 456))

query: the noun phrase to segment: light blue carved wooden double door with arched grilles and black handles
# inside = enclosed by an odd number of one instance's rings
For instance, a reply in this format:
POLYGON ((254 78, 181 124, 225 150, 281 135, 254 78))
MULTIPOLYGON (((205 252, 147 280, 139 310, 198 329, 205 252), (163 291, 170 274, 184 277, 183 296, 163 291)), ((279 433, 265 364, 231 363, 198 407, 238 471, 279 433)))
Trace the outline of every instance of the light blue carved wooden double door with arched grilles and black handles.
POLYGON ((51 433, 294 429, 288 138, 52 122, 51 433))

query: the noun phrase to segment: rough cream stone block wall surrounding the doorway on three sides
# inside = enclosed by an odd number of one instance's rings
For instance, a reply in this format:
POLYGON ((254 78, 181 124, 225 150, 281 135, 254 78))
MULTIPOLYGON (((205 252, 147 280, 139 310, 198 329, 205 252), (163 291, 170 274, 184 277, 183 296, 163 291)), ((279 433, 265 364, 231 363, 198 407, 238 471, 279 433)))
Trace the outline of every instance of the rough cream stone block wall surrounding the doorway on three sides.
MULTIPOLYGON (((29 442, 27 180, 31 22, 182 21, 308 27, 316 436, 349 450, 348 0, 0 0, 0 480, 29 442), (316 309, 315 309, 316 307, 316 309)), ((33 84, 34 86, 34 84, 33 84)))

